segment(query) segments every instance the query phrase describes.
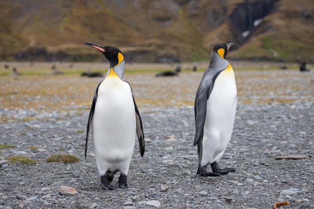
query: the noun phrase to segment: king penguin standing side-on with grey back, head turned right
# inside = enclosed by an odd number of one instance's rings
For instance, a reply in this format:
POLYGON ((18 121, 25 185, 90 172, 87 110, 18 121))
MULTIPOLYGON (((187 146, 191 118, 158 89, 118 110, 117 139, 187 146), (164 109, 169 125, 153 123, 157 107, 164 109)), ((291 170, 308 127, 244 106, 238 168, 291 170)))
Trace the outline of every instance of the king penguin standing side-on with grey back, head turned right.
POLYGON ((193 144, 198 148, 197 174, 201 176, 219 176, 235 171, 234 168, 220 168, 218 165, 229 144, 237 108, 234 72, 226 60, 232 45, 217 44, 213 48, 209 66, 196 93, 193 144), (207 172, 208 164, 213 172, 207 172))

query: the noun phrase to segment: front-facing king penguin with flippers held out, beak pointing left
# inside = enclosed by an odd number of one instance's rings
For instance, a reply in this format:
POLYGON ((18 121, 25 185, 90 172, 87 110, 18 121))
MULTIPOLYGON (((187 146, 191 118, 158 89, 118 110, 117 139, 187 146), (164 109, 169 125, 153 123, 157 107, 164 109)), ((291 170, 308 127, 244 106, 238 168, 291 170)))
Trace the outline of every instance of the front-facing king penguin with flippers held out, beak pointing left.
POLYGON ((90 108, 85 143, 85 158, 90 128, 101 186, 113 190, 114 174, 120 171, 118 187, 127 187, 127 173, 137 134, 140 155, 144 154, 144 134, 141 118, 131 86, 122 80, 125 61, 116 47, 104 47, 86 42, 102 52, 110 63, 105 78, 96 87, 90 108))

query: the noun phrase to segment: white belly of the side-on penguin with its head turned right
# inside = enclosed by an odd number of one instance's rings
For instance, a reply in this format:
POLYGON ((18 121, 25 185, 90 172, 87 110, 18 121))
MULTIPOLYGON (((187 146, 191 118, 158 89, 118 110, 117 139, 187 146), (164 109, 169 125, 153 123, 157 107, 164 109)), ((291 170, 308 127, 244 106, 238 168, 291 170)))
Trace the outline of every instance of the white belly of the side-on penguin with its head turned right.
POLYGON ((217 77, 207 100, 201 165, 219 161, 225 152, 233 129, 237 107, 237 89, 232 69, 217 77))

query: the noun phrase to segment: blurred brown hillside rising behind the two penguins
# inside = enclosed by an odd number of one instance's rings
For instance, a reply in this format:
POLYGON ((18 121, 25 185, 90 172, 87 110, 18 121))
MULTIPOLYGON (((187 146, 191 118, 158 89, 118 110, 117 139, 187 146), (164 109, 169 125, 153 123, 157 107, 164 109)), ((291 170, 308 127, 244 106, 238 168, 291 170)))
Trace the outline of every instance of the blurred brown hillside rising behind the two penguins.
MULTIPOLYGON (((314 59, 312 0, 2 0, 0 60, 95 61, 93 42, 120 48, 131 62, 228 57, 314 59)), ((102 58, 104 59, 104 58, 102 58)))

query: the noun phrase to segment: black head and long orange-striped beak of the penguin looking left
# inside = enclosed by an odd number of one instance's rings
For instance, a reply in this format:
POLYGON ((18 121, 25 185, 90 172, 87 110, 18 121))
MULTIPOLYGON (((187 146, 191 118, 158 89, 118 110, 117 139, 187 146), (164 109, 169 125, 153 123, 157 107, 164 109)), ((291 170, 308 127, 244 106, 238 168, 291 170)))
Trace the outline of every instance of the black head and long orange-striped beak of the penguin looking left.
POLYGON ((117 66, 124 60, 121 51, 116 47, 105 47, 105 46, 100 46, 100 45, 89 43, 89 42, 86 42, 84 44, 92 46, 95 49, 98 49, 110 62, 110 68, 117 66))

